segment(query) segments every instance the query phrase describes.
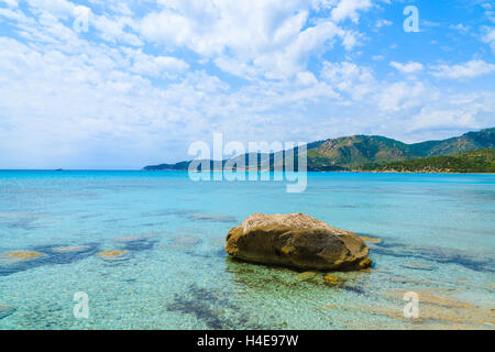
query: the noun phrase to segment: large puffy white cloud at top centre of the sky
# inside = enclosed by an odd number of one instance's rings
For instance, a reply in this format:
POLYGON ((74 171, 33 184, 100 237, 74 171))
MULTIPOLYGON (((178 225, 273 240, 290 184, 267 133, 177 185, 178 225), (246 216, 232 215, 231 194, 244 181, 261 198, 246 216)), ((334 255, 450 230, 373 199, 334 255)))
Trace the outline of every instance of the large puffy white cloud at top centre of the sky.
POLYGON ((356 21, 371 2, 348 2, 334 6, 330 19, 310 23, 310 8, 327 9, 333 1, 253 0, 235 7, 230 0, 172 1, 144 16, 140 32, 165 47, 212 58, 230 74, 285 79, 306 70, 309 55, 324 53, 337 40, 346 51, 359 44, 360 34, 336 21, 356 21))

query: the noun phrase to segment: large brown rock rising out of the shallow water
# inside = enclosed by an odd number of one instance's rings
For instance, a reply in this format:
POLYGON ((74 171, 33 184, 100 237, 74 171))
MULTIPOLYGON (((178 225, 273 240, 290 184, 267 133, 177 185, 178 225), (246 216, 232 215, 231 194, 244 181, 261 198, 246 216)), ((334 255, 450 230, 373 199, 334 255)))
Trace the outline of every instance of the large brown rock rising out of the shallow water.
POLYGON ((227 253, 256 263, 315 270, 369 267, 369 248, 350 231, 304 213, 248 217, 227 234, 227 253))

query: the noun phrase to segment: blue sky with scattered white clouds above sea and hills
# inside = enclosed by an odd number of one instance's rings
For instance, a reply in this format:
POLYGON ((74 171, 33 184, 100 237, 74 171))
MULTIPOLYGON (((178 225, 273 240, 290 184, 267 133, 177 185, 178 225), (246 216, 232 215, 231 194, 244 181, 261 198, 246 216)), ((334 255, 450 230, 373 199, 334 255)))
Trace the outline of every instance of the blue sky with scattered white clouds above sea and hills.
POLYGON ((494 1, 0 0, 0 169, 495 125, 494 1))

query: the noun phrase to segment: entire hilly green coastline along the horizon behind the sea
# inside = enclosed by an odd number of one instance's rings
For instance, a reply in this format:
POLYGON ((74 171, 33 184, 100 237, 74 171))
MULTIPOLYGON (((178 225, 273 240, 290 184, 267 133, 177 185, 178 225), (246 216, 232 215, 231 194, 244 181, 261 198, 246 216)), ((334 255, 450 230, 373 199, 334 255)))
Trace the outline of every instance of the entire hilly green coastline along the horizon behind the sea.
MULTIPOLYGON (((495 173, 495 128, 469 132, 441 141, 426 141, 406 144, 380 135, 353 135, 330 139, 307 144, 307 172, 384 172, 427 174, 493 174, 495 173)), ((257 169, 261 163, 250 168, 255 157, 268 157, 270 170, 282 170, 287 151, 251 153, 221 161, 222 167, 248 166, 245 170, 257 169), (282 162, 283 163, 283 162, 282 162), (256 168, 254 168, 256 167, 256 168)), ((298 148, 294 148, 294 161, 298 148)), ((202 161, 209 169, 218 169, 211 160, 202 161)), ((187 170, 191 161, 175 164, 148 165, 142 170, 187 170)), ((297 165, 294 167, 297 170, 297 165)), ((235 168, 234 168, 235 170, 235 168)), ((268 169, 265 169, 268 170, 268 169)))

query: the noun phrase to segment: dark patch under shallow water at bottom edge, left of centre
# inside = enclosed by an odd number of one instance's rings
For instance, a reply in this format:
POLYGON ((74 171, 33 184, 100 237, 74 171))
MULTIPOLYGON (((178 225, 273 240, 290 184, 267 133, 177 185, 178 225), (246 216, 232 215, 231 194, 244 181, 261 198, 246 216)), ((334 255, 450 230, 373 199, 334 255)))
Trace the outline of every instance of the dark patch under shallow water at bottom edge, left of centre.
MULTIPOLYGON (((209 329, 267 329, 257 321, 252 321, 246 311, 229 299, 222 298, 218 293, 198 287, 189 286, 185 293, 175 294, 174 301, 166 306, 168 311, 178 311, 193 315, 202 321, 209 329), (229 310, 232 315, 227 316, 229 310)), ((271 327, 276 328, 276 327, 271 327)))

